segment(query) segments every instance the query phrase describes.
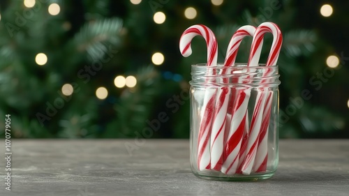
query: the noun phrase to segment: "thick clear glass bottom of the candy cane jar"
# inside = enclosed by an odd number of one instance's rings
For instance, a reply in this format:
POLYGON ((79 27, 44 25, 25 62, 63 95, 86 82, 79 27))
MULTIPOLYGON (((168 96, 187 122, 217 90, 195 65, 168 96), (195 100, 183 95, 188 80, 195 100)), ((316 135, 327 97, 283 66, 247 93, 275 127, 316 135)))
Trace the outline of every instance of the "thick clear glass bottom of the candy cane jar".
POLYGON ((199 174, 193 172, 195 176, 200 179, 213 180, 213 181, 260 181, 265 179, 270 179, 274 176, 275 172, 267 172, 263 174, 251 174, 251 175, 243 175, 236 174, 232 176, 211 176, 207 174, 199 174))

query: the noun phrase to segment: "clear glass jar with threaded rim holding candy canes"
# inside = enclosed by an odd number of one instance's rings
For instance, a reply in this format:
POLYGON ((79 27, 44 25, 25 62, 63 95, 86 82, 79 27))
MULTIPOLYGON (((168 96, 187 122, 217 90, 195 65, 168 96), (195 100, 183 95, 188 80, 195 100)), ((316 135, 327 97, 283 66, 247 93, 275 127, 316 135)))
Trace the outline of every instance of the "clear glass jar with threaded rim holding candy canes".
POLYGON ((191 66, 191 170, 203 179, 268 179, 279 163, 278 66, 191 66))

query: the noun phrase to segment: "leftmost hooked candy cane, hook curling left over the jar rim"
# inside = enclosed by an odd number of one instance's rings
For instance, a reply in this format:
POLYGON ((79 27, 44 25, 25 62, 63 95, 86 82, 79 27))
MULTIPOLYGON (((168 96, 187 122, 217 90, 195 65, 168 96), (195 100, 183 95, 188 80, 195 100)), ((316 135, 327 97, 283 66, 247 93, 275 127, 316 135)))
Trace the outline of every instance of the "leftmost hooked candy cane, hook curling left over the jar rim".
MULTIPOLYGON (((190 56, 191 40, 195 36, 202 36, 206 40, 207 44, 207 66, 217 65, 217 41, 214 33, 205 25, 196 24, 184 31, 179 40, 179 50, 181 54, 186 57, 190 56)), ((208 73, 214 74, 214 73, 208 73)), ((209 149, 209 136, 211 133, 211 125, 213 122, 214 106, 216 102, 216 89, 207 88, 205 90, 204 103, 201 109, 201 121, 198 134, 198 169, 200 171, 210 169, 210 149, 209 149)))

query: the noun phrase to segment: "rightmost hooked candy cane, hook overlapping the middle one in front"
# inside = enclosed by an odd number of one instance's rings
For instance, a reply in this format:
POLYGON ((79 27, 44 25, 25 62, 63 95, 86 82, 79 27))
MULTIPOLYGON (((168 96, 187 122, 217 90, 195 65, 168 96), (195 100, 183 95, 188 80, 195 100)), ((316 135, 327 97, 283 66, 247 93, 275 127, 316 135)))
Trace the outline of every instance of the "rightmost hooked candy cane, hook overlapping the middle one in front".
MULTIPOLYGON (((265 33, 271 32, 273 34, 273 43, 272 43, 272 49, 269 52, 269 56, 267 59, 266 66, 274 66, 276 65, 276 61, 279 58, 280 50, 281 50, 281 44, 282 44, 282 35, 279 27, 272 23, 272 22, 264 22, 258 26, 258 28, 255 31, 255 35, 253 36, 252 40, 252 46, 251 46, 251 52, 250 56, 248 58, 248 66, 258 66, 258 61, 260 59, 260 51, 258 51, 258 48, 260 45, 262 45, 262 40, 264 38, 265 33)), ((269 73, 265 73, 264 76, 268 75, 269 73)), ((270 106, 266 107, 265 103, 271 102, 272 95, 270 95, 267 88, 261 88, 258 90, 256 103, 253 111, 253 116, 251 119, 251 125, 250 125, 250 131, 249 131, 249 137, 248 137, 248 144, 247 144, 247 153, 246 158, 244 160, 244 165, 242 166, 242 173, 243 174, 251 174, 251 170, 253 168, 253 164, 255 162, 255 157, 257 153, 258 146, 267 146, 267 143, 260 144, 259 142, 267 142, 267 134, 264 134, 264 137, 266 138, 260 138, 261 130, 262 130, 262 121, 267 121, 267 114, 270 116, 270 112, 264 112, 268 111, 271 108, 270 106), (265 139, 265 140, 264 140, 265 139)), ((269 121, 267 122, 269 124, 269 121)), ((266 128, 267 131, 267 128, 266 128)), ((258 155, 257 163, 264 164, 264 160, 267 160, 267 148, 260 147, 260 153, 262 156, 258 155), (266 155, 266 156, 265 156, 266 155), (260 161, 262 160, 262 161, 260 161)), ((266 163, 265 163, 266 164, 266 163)), ((259 168, 260 165, 255 165, 255 168, 259 168)))

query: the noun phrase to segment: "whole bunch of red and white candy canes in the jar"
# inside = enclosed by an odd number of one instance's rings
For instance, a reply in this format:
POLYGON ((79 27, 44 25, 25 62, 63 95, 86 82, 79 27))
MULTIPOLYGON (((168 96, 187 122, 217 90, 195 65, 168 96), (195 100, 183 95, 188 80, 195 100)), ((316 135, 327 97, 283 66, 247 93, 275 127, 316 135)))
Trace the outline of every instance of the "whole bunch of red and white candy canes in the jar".
MULTIPOLYGON (((282 35, 279 27, 264 22, 257 28, 246 25, 232 36, 223 66, 235 66, 237 51, 245 36, 252 36, 248 67, 258 66, 265 33, 272 33, 273 42, 266 66, 275 66, 281 50, 282 35)), ((214 33, 205 25, 189 27, 181 35, 179 50, 183 56, 190 56, 191 40, 202 36, 207 43, 207 66, 217 66, 217 42, 214 33)), ((208 73, 224 74, 222 73, 208 73)), ((270 73, 263 73, 268 76, 270 73)), ((232 82, 238 82, 235 78, 232 82), (235 81, 234 81, 235 80, 235 81)), ((228 79, 223 79, 228 83, 228 79)), ((267 82, 262 80, 261 84, 267 82)), ((207 88, 200 112, 198 130, 198 169, 216 170, 224 174, 251 174, 266 172, 268 160, 268 126, 272 110, 273 91, 260 87, 255 98, 251 121, 248 121, 248 100, 251 89, 220 86, 207 88), (232 98, 233 100, 232 101, 232 98)))

